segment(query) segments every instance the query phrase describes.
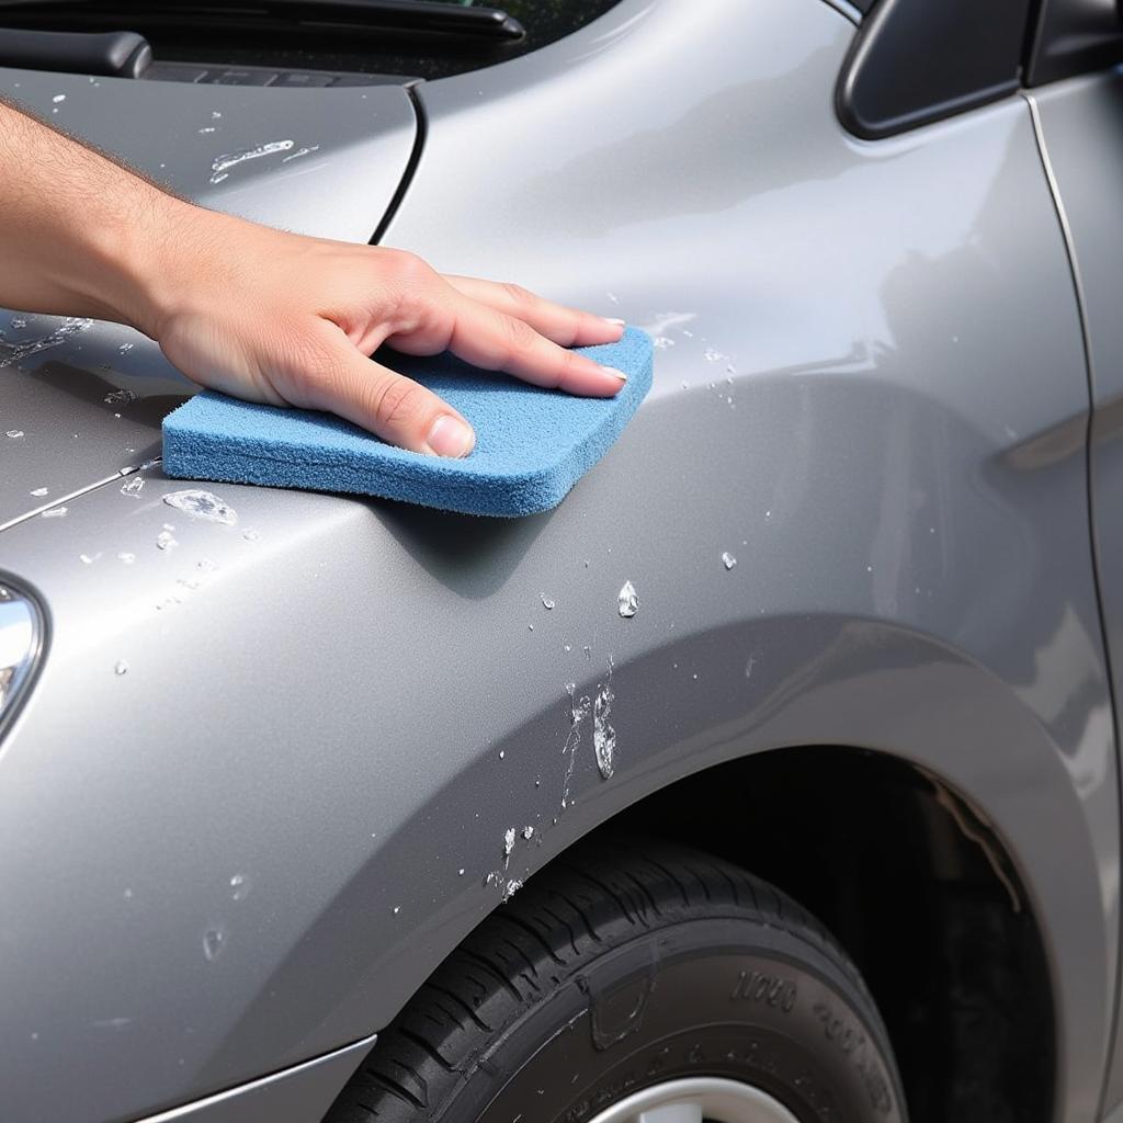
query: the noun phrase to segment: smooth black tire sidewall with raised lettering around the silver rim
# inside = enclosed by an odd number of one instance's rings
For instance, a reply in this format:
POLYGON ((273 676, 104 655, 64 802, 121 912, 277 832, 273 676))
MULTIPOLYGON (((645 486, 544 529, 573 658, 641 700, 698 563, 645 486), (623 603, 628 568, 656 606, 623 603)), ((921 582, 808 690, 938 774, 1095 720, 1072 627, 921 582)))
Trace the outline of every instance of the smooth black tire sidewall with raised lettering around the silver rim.
POLYGON ((442 1123, 588 1123, 667 1080, 754 1085, 801 1123, 903 1123, 885 1031, 841 964, 742 916, 681 921, 606 948, 477 1059, 442 1123))

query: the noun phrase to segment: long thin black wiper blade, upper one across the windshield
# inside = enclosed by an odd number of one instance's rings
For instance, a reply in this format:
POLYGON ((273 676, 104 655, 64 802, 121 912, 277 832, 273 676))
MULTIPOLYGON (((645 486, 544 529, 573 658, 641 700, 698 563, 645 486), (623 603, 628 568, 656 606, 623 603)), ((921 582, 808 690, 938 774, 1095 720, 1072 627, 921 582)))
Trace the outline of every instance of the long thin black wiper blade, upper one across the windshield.
POLYGON ((513 43, 526 37, 526 29, 501 8, 476 8, 440 0, 0 0, 3 11, 30 13, 36 10, 72 8, 77 11, 111 12, 127 19, 130 13, 161 16, 174 13, 245 19, 279 19, 321 27, 360 27, 363 29, 445 35, 513 43))

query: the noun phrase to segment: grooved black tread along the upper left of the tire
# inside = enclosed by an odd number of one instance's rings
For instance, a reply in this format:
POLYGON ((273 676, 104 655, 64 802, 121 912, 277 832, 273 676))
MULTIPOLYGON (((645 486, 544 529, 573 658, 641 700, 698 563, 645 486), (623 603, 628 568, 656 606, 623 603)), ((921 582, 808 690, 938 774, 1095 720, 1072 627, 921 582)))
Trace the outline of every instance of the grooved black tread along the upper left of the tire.
POLYGON ((325 1123, 439 1120, 494 1037, 540 1001, 546 980, 557 986, 606 947, 694 916, 728 913, 779 929, 825 956, 873 1004, 861 976, 823 926, 740 867, 633 840, 613 840, 610 847, 602 841, 596 851, 584 851, 584 861, 581 856, 551 865, 437 968, 378 1034, 325 1123), (611 859, 603 857, 605 849, 613 851, 611 859), (588 869, 594 862, 595 875, 588 869))

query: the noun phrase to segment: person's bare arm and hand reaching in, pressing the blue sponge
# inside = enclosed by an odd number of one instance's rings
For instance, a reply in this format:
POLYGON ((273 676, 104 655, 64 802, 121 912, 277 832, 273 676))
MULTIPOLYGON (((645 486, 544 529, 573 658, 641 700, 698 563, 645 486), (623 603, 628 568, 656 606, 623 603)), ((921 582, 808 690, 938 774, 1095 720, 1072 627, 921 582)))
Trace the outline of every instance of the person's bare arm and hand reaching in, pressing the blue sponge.
POLYGON ((567 347, 619 321, 445 277, 396 249, 309 238, 179 199, 0 103, 0 305, 130 325, 193 381, 338 413, 417 451, 463 456, 467 422, 369 356, 450 349, 538 385, 610 396, 622 375, 567 347))

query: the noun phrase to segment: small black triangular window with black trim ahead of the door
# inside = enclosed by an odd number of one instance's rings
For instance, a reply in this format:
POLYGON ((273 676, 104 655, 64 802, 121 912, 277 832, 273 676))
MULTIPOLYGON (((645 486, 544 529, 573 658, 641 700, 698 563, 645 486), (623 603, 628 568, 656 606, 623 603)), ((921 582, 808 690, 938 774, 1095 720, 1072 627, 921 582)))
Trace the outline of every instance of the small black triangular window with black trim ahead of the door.
POLYGON ((879 0, 839 75, 839 120, 877 140, 1014 93, 1029 10, 1030 0, 879 0))

